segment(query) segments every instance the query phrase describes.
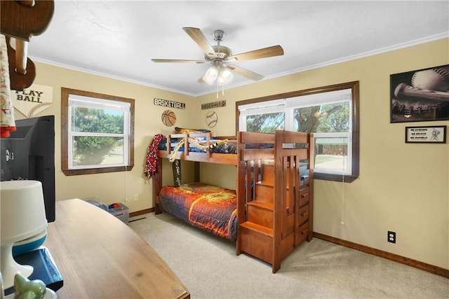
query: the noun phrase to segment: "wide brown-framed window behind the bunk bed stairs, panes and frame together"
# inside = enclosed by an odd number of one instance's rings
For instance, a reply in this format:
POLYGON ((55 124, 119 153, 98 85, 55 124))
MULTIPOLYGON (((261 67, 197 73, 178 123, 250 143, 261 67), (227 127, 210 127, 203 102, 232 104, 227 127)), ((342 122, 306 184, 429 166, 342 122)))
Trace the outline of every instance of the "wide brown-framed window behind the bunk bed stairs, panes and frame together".
POLYGON ((311 132, 315 179, 358 177, 358 82, 236 103, 238 130, 311 132))

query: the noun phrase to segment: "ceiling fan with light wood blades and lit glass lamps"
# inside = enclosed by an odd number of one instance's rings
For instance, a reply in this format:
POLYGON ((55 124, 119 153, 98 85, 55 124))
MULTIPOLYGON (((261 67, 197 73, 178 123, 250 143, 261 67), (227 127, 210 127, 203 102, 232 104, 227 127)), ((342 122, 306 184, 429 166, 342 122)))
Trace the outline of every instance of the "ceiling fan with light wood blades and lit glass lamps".
POLYGON ((248 69, 243 69, 242 67, 237 67, 234 64, 229 64, 229 62, 239 62, 244 60, 256 60, 260 58, 274 57, 283 55, 283 48, 279 45, 271 46, 267 48, 261 48, 257 50, 252 50, 245 53, 240 53, 237 55, 232 55, 232 50, 226 46, 221 46, 220 42, 225 37, 225 32, 222 30, 215 30, 213 32, 213 39, 217 41, 216 46, 210 46, 210 43, 204 36, 200 29, 194 27, 183 27, 182 28, 193 40, 194 42, 203 50, 205 56, 204 60, 168 60, 168 59, 152 59, 153 62, 182 62, 182 63, 212 63, 213 65, 206 71, 206 74, 199 79, 200 82, 206 82, 212 84, 217 80, 217 85, 223 86, 232 81, 233 74, 235 71, 242 76, 250 78, 254 81, 259 81, 264 76, 257 74, 248 69))

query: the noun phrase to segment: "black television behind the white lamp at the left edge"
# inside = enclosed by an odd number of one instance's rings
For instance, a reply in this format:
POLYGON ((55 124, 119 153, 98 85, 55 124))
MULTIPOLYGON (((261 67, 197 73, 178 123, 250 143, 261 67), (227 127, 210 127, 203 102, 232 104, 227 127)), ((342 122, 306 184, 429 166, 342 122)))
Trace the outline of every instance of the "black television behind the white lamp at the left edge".
POLYGON ((0 180, 41 181, 47 221, 55 221, 55 116, 15 120, 0 138, 0 180))

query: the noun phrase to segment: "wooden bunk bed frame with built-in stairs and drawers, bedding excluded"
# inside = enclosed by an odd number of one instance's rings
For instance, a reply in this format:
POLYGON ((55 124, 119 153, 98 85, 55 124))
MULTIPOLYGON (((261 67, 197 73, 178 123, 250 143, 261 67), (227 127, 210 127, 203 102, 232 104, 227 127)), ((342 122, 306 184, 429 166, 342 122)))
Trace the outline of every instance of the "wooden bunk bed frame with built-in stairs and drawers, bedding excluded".
MULTIPOLYGON (((203 144, 210 148, 224 139, 210 133, 165 137, 165 147, 158 150, 158 171, 153 178, 156 214, 164 210, 161 191, 173 188, 162 186, 161 159, 196 162, 195 181, 199 181, 198 162, 235 165, 236 207, 232 215, 237 225, 236 254, 255 256, 271 264, 273 273, 277 272, 283 258, 304 240, 312 239, 313 134, 284 130, 276 130, 274 134, 238 132, 234 140, 225 137, 228 139, 225 144, 232 145, 229 153, 214 152, 215 149, 199 153, 189 146, 179 148, 179 142, 189 144, 192 138, 203 139, 203 144)), ((228 224, 232 225, 232 221, 228 224)))

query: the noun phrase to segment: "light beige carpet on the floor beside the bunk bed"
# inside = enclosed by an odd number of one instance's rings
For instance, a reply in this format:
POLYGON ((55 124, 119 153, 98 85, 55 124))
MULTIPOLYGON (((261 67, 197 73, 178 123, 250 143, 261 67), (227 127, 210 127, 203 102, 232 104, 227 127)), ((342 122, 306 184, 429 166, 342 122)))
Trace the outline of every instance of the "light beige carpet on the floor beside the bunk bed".
POLYGON ((304 242, 272 274, 235 243, 168 214, 130 228, 166 261, 195 298, 449 298, 449 279, 321 239, 304 242))

